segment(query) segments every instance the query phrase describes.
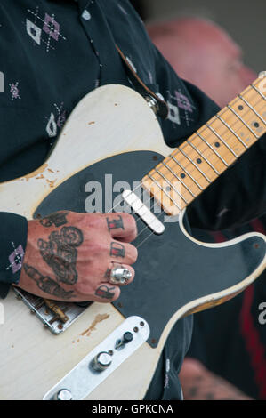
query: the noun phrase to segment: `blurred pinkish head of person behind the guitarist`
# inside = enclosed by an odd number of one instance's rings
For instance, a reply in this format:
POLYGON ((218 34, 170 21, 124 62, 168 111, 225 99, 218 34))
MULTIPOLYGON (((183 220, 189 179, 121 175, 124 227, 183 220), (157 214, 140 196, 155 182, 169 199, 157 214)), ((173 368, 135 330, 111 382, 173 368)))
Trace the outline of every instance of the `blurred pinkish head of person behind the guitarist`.
POLYGON ((214 22, 183 18, 148 26, 149 36, 181 78, 221 107, 254 81, 238 44, 214 22))

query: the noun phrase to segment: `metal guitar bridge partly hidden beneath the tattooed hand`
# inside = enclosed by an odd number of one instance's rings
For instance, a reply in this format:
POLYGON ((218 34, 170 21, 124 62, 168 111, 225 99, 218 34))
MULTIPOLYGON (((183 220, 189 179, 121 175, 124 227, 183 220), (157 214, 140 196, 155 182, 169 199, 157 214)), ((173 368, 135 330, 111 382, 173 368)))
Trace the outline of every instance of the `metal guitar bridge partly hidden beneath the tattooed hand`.
POLYGON ((93 302, 72 303, 51 301, 40 298, 24 290, 13 288, 17 299, 23 301, 33 315, 44 324, 52 334, 63 333, 79 318, 93 302))

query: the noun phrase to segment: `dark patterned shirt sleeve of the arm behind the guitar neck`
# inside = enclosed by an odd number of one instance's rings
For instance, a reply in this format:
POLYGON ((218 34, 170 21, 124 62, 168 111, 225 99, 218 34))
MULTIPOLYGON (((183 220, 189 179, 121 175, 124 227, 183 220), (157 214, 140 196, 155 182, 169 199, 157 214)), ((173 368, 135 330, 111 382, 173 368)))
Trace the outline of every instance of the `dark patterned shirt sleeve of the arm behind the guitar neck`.
MULTIPOLYGON (((196 86, 181 80, 155 48, 157 84, 170 105, 162 122, 165 142, 181 145, 213 117, 219 107, 196 86), (171 114, 172 112, 172 114, 171 114)), ((238 158, 188 207, 194 228, 236 228, 266 212, 266 135, 238 158)))

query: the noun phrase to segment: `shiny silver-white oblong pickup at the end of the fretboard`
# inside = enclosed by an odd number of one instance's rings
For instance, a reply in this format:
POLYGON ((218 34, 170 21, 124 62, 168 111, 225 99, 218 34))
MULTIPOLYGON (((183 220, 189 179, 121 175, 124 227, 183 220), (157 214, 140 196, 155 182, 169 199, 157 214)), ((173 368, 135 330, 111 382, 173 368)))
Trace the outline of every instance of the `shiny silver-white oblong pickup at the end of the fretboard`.
POLYGON ((141 220, 144 221, 155 234, 163 234, 165 231, 164 224, 157 219, 157 217, 147 207, 133 191, 125 190, 122 193, 125 203, 137 213, 141 220))

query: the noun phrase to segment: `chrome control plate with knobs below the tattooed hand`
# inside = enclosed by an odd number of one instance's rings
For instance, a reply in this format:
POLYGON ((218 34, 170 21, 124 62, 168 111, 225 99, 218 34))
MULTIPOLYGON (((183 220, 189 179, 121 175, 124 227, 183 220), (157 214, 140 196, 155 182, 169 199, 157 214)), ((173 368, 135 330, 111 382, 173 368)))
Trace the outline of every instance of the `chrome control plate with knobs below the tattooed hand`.
POLYGON ((60 382, 56 383, 45 395, 43 400, 57 399, 57 395, 66 390, 73 400, 86 398, 109 374, 114 372, 133 352, 141 347, 149 338, 149 325, 141 317, 129 317, 115 329, 109 336, 95 347, 77 366, 66 374, 60 382), (123 338, 125 333, 132 333, 133 340, 124 346, 117 346, 117 341, 123 338), (93 360, 101 352, 107 352, 112 359, 110 366, 97 372, 93 369, 93 360))

